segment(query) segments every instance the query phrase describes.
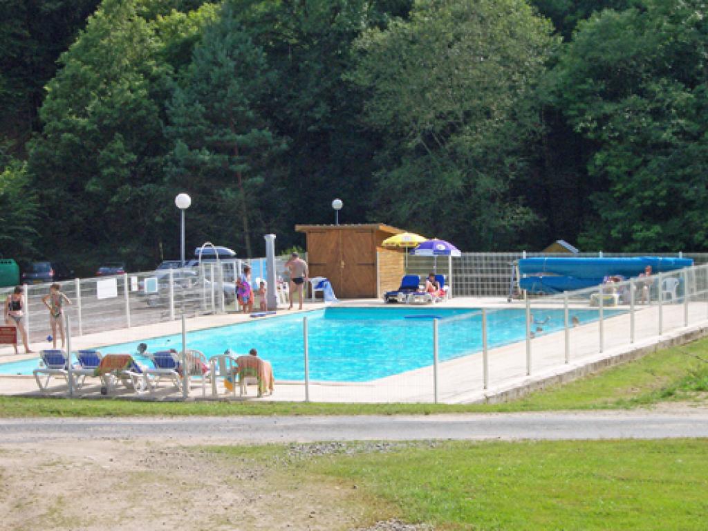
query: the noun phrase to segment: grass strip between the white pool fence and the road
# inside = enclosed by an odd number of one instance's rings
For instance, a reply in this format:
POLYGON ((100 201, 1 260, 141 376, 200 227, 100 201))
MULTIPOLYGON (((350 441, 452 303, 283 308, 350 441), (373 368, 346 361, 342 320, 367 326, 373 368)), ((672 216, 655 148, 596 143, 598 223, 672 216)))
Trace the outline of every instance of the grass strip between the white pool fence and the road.
POLYGON ((119 399, 0 397, 0 417, 432 414, 562 409, 625 409, 660 401, 706 401, 708 339, 644 358, 505 404, 159 403, 119 399))

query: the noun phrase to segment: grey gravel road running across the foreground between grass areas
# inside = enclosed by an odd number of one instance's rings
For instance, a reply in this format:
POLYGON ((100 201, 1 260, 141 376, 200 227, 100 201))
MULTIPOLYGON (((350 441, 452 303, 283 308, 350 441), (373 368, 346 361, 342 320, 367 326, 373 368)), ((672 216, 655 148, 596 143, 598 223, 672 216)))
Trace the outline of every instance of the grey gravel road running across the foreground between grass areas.
POLYGON ((185 444, 428 439, 708 437, 708 409, 431 416, 186 417, 0 421, 0 444, 52 439, 174 440, 185 444))

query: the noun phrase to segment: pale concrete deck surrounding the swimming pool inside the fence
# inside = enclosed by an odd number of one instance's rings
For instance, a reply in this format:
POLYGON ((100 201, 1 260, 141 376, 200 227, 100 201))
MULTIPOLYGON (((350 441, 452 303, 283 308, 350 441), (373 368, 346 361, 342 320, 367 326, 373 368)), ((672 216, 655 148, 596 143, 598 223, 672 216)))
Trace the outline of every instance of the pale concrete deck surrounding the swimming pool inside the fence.
MULTIPOLYGON (((347 307, 383 307, 380 300, 360 299, 343 301, 347 307)), ((559 304, 534 301, 533 312, 542 312, 544 308, 562 309, 559 304)), ((303 312, 321 309, 324 304, 306 303, 303 312)), ((457 297, 449 302, 437 304, 436 307, 447 308, 479 308, 484 307, 492 312, 494 309, 523 309, 524 303, 507 302, 498 297, 457 297)), ((588 309, 587 303, 573 304, 571 309, 588 309)), ((296 310, 280 310, 278 315, 296 314, 296 310)), ((263 319, 269 319, 264 317, 263 319)), ((566 362, 565 331, 554 333, 539 333, 530 341, 530 352, 527 352, 525 341, 489 350, 488 386, 484 389, 483 357, 480 353, 462 356, 454 360, 440 362, 438 365, 438 401, 449 404, 469 403, 479 401, 501 401, 514 396, 520 396, 547 384, 569 381, 581 377, 588 372, 600 370, 627 359, 636 358, 662 346, 684 343, 708 333, 708 306, 706 302, 691 302, 688 307, 683 304, 665 304, 662 307, 661 323, 663 330, 659 335, 658 306, 636 307, 634 319, 635 341, 629 344, 630 330, 629 313, 605 317, 600 333, 598 321, 581 323, 570 329, 569 360, 566 362), (686 312, 686 313, 685 313, 686 312), (685 315, 689 326, 684 325, 685 315), (600 336, 603 336, 603 348, 600 349, 600 336), (600 352, 602 350, 602 352, 600 352), (530 375, 527 374, 528 355, 530 355, 530 375)), ((252 321, 246 314, 209 315, 187 320, 188 331, 227 326, 244 321, 252 321)), ((72 337, 72 350, 80 348, 96 348, 115 343, 125 343, 147 339, 156 336, 180 333, 181 321, 168 321, 146 326, 134 326, 130 329, 119 329, 103 333, 92 333, 85 336, 72 337)), ((33 343, 35 350, 51 348, 50 343, 33 343)), ((21 348, 21 350, 23 350, 21 348)), ((0 362, 11 362, 36 358, 36 354, 14 355, 12 348, 0 349, 0 362)), ((432 355, 431 355, 432 357, 432 355)), ((273 396, 262 400, 303 401, 305 387, 302 382, 280 382, 276 377, 273 396)), ((362 383, 311 382, 309 399, 311 401, 336 402, 431 402, 435 399, 433 367, 423 367, 399 375, 385 377, 362 383)), ((67 393, 67 386, 54 379, 48 395, 62 396, 67 393)), ((208 389, 206 399, 213 399, 208 389)), ((219 387, 222 387, 219 382, 219 387)), ((223 393, 223 389, 221 389, 223 393)), ((41 396, 32 376, 0 376, 0 394, 20 396, 41 396)), ((87 384, 79 396, 101 397, 100 386, 87 384)), ((181 394, 173 387, 162 387, 154 393, 135 394, 127 391, 117 391, 120 396, 130 396, 145 400, 180 399, 181 394)), ((250 389, 250 397, 255 399, 254 389, 250 389)), ((230 394, 220 394, 219 399, 229 399, 230 394)), ((202 399, 202 390, 198 382, 193 382, 190 399, 202 399)), ((241 399, 236 394, 236 399, 241 399)))

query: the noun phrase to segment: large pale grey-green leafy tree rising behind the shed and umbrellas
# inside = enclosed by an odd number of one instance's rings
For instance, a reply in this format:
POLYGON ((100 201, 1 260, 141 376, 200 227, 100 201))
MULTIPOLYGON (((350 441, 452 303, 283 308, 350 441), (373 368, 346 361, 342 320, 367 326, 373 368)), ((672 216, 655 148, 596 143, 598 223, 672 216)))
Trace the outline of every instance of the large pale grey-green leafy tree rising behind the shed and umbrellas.
POLYGON ((410 21, 365 33, 351 79, 384 137, 376 212, 467 249, 510 246, 533 227, 510 184, 537 129, 529 91, 550 30, 522 1, 450 0, 418 1, 410 21))

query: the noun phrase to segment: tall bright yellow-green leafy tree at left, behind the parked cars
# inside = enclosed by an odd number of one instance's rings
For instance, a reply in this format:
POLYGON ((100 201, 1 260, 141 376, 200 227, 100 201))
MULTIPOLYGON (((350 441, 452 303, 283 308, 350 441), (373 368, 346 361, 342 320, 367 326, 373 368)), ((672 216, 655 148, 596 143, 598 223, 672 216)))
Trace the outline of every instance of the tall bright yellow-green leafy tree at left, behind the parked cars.
POLYGON ((164 120, 176 74, 166 50, 193 42, 196 32, 194 23, 165 30, 170 18, 181 16, 160 16, 149 1, 105 0, 62 55, 28 160, 41 212, 51 220, 42 230, 47 252, 90 249, 140 267, 158 258, 172 202, 164 120))

